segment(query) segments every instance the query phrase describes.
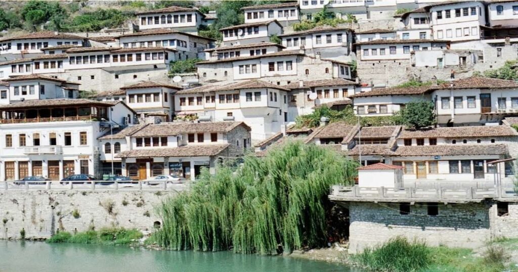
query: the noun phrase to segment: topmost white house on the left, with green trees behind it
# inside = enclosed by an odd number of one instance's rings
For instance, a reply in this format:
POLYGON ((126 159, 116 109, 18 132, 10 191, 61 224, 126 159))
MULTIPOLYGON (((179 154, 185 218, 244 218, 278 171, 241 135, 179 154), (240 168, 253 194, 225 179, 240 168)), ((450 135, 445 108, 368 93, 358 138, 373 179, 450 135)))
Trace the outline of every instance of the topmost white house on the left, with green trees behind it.
POLYGON ((139 30, 172 28, 197 33, 205 15, 195 8, 167 7, 137 12, 139 30))

